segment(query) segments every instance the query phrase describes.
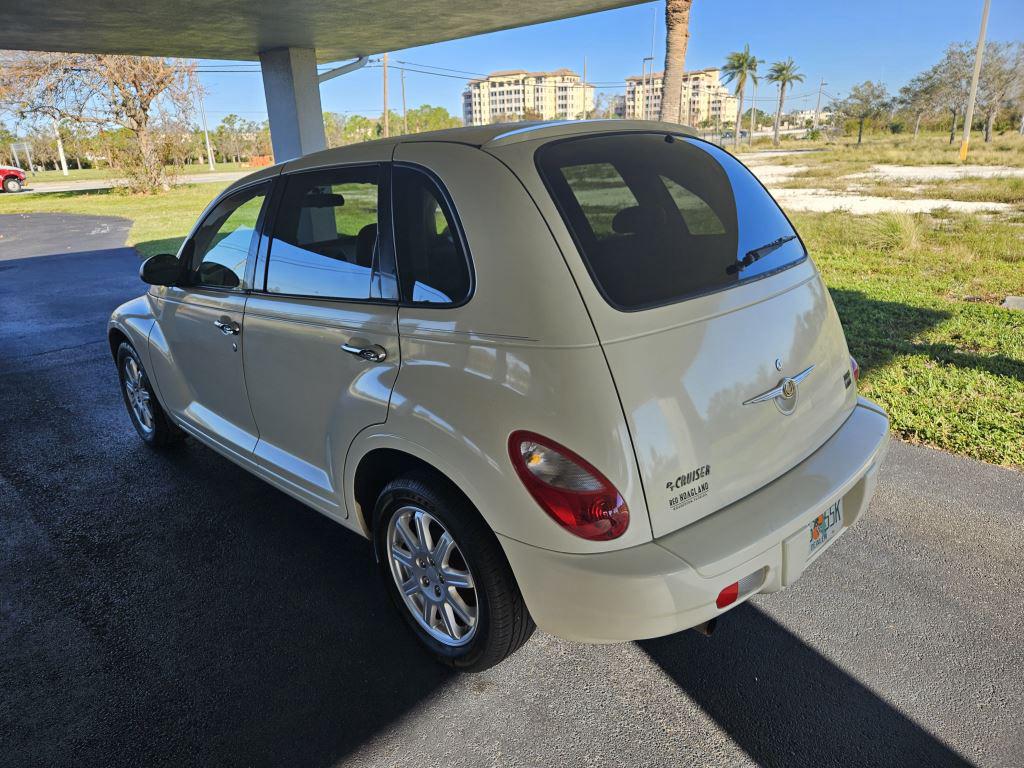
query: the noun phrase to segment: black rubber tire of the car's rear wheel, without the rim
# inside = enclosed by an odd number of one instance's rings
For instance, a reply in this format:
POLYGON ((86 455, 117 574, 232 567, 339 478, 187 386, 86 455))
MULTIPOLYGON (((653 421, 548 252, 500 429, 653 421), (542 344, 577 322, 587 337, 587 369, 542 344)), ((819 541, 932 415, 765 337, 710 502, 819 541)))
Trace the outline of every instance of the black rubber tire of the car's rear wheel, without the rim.
POLYGON ((441 664, 461 672, 482 672, 514 653, 534 634, 536 625, 501 545, 479 513, 443 478, 416 471, 391 480, 374 509, 374 547, 391 602, 420 642, 441 664), (450 532, 472 574, 476 629, 465 645, 453 647, 434 639, 413 615, 392 574, 387 542, 389 524, 399 510, 410 506, 426 511, 450 532))

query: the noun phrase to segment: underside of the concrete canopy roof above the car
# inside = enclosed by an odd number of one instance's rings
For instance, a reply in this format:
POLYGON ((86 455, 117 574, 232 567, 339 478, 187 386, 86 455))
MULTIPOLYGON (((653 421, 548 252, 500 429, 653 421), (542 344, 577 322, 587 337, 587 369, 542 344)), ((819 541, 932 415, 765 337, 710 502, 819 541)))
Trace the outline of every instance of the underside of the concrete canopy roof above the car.
POLYGON ((0 48, 337 61, 582 15, 638 0, 8 0, 0 48))

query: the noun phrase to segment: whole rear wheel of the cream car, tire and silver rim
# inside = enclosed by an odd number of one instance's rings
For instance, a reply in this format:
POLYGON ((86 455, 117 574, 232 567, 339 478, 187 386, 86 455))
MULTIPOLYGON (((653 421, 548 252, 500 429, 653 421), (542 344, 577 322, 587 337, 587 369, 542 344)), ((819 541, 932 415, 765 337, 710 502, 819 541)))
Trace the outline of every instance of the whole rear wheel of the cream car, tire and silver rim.
POLYGON ((377 501, 374 544, 392 602, 442 664, 486 670, 534 633, 494 534, 440 478, 417 472, 389 482, 377 501))

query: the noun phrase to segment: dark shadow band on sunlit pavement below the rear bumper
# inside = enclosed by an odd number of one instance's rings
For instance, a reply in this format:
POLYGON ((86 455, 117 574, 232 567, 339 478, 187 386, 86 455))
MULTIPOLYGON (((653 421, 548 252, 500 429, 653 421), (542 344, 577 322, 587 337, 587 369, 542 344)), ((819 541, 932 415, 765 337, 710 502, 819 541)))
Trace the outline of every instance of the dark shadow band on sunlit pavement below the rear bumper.
POLYGON ((638 644, 758 765, 971 765, 750 603, 638 644))

